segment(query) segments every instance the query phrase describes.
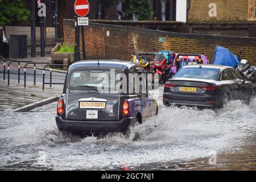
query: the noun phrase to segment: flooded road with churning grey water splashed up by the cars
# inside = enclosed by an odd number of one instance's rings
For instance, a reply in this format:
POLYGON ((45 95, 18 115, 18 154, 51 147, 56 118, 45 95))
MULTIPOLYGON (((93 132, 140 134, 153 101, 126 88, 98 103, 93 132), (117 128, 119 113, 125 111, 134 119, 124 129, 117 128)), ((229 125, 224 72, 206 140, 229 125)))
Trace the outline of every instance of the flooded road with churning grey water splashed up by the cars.
POLYGON ((0 169, 255 170, 255 105, 256 98, 215 111, 161 105, 158 117, 134 127, 130 138, 100 139, 59 133, 56 103, 28 113, 7 110, 0 112, 0 169))

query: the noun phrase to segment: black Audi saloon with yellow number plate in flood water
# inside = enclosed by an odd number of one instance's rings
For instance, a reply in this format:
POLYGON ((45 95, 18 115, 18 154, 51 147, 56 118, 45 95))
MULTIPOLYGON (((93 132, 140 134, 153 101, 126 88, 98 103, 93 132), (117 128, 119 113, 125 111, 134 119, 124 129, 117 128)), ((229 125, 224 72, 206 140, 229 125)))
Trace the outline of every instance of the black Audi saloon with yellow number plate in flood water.
POLYGON ((163 104, 222 107, 225 100, 249 104, 255 85, 223 65, 187 65, 164 85, 163 104))

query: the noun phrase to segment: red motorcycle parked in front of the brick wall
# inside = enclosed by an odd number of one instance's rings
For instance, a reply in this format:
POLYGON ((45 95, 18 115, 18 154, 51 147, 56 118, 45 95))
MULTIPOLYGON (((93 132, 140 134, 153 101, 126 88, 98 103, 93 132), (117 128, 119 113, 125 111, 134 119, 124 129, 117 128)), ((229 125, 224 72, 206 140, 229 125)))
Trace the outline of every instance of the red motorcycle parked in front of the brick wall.
POLYGON ((164 84, 168 78, 172 77, 171 60, 175 59, 175 53, 170 51, 160 51, 155 56, 153 69, 156 74, 159 74, 159 83, 164 84))

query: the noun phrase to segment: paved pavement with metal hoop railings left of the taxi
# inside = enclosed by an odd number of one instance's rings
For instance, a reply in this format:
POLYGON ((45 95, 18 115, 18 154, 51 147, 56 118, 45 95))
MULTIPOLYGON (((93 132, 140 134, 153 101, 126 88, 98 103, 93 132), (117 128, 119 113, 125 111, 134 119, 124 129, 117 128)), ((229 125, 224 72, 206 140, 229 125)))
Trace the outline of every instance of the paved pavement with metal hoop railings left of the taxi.
MULTIPOLYGON (((46 62, 49 55, 46 57, 36 57, 19 59, 34 62, 46 62)), ((6 61, 8 64, 9 61, 6 61)), ((33 65, 31 65, 33 67, 33 65)), ((42 68, 44 64, 36 65, 37 68, 42 68)), ((16 109, 18 107, 32 104, 40 100, 44 100, 49 97, 60 97, 63 85, 46 85, 46 89, 42 90, 42 75, 43 72, 36 70, 36 85, 34 86, 34 71, 33 69, 27 69, 27 87, 24 88, 24 63, 21 63, 20 69, 20 83, 18 84, 18 64, 11 64, 10 67, 10 86, 7 85, 7 73, 6 80, 3 81, 3 61, 0 62, 0 111, 6 109, 16 109)), ((7 68, 6 68, 7 72, 7 68)), ((64 73, 53 73, 53 82, 64 82, 64 73)), ((49 72, 46 72, 46 81, 49 82, 49 72)))

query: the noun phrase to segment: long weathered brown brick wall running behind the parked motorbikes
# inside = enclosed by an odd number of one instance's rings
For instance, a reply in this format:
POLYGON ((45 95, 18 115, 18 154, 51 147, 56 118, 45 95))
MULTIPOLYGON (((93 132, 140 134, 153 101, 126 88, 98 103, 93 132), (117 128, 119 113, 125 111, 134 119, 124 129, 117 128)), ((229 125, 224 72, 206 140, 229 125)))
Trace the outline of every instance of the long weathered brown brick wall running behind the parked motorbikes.
MULTIPOLYGON (((75 42, 74 24, 73 20, 64 20, 66 43, 75 42)), ((242 51, 243 57, 249 61, 256 60, 256 38, 182 34, 98 23, 85 27, 85 36, 87 59, 96 59, 97 47, 98 56, 105 59, 130 60, 131 52, 154 52, 155 48, 157 51, 201 53, 211 60, 214 48, 222 46, 237 55, 242 51), (107 31, 110 36, 106 36, 107 31), (159 38, 166 38, 166 42, 159 42, 159 38)))

